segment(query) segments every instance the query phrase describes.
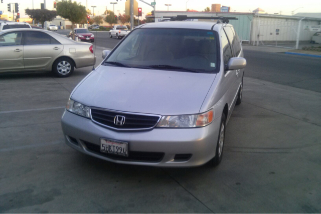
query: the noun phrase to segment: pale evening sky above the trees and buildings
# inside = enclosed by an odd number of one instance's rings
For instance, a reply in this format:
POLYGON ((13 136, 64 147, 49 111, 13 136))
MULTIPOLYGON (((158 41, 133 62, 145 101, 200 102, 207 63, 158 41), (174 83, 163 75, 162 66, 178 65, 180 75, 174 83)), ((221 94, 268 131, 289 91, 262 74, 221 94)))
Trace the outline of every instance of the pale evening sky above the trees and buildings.
MULTIPOLYGON (((0 3, 0 11, 3 11, 4 14, 7 12, 7 4, 11 2, 19 3, 19 11, 21 18, 27 18, 24 13, 24 10, 29 8, 32 9, 32 2, 34 1, 34 8, 40 9, 40 4, 44 0, 4 0, 4 3, 0 3)), ((138 7, 142 8, 144 14, 152 11, 152 8, 138 0, 138 7)), ((153 2, 153 0, 144 0, 147 3, 153 2)), ((167 11, 167 6, 165 4, 171 4, 170 11, 185 11, 186 2, 188 0, 156 0, 156 11, 167 11)), ((81 3, 83 6, 86 6, 86 0, 78 0, 76 2, 81 3)), ((106 6, 108 10, 113 10, 111 2, 116 2, 116 0, 88 0, 88 8, 92 11, 91 6, 97 6, 95 8, 95 14, 101 15, 106 6), (99 13, 99 14, 98 14, 99 13)), ((46 0, 47 9, 53 10, 54 0, 46 0)), ((294 11, 297 8, 300 8, 294 12, 295 13, 321 13, 321 0, 305 0, 305 1, 280 1, 280 0, 268 0, 268 1, 239 1, 239 0, 189 0, 187 3, 187 8, 191 10, 202 11, 206 7, 211 8, 212 4, 221 4, 221 6, 229 6, 233 11, 247 13, 255 10, 256 8, 263 9, 266 13, 274 14, 280 13, 282 15, 291 15, 291 11, 294 11)), ((118 0, 118 4, 115 5, 115 14, 124 13, 125 10, 125 0, 118 0), (119 11, 119 12, 118 12, 119 11)))

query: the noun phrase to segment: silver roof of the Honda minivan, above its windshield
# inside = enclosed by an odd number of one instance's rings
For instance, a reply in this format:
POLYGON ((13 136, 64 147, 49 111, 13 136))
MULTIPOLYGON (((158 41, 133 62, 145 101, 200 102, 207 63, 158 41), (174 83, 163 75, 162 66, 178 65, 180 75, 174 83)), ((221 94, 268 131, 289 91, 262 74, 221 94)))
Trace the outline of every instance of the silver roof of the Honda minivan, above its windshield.
POLYGON ((181 29, 198 29, 198 30, 215 30, 221 29, 223 26, 232 26, 224 23, 212 22, 192 22, 192 21, 174 21, 174 22, 158 22, 148 23, 140 28, 181 28, 181 29))

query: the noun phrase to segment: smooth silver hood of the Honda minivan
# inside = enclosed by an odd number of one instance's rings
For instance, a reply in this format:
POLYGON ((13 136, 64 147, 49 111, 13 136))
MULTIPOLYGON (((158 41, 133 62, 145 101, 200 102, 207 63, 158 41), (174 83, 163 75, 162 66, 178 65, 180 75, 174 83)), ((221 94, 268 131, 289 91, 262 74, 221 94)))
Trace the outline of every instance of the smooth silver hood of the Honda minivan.
POLYGON ((90 107, 181 115, 199 113, 216 74, 100 66, 71 96, 90 107))

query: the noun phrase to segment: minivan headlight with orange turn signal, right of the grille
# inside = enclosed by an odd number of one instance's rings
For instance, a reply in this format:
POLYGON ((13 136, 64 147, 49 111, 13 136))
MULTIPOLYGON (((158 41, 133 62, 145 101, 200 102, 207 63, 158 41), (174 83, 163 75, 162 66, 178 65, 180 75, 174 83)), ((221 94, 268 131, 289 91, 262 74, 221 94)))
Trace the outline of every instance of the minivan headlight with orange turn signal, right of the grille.
POLYGON ((163 116, 158 122, 159 128, 196 128, 207 126, 214 119, 214 110, 202 114, 163 116))

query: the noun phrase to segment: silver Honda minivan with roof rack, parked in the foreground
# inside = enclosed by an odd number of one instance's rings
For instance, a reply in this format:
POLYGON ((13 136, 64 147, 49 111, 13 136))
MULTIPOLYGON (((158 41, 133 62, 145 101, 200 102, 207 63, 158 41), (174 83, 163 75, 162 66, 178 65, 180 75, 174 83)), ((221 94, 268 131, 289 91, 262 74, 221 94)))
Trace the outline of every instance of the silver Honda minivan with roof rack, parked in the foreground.
POLYGON ((232 25, 138 26, 73 90, 65 141, 115 163, 189 167, 222 160, 246 60, 232 25))

